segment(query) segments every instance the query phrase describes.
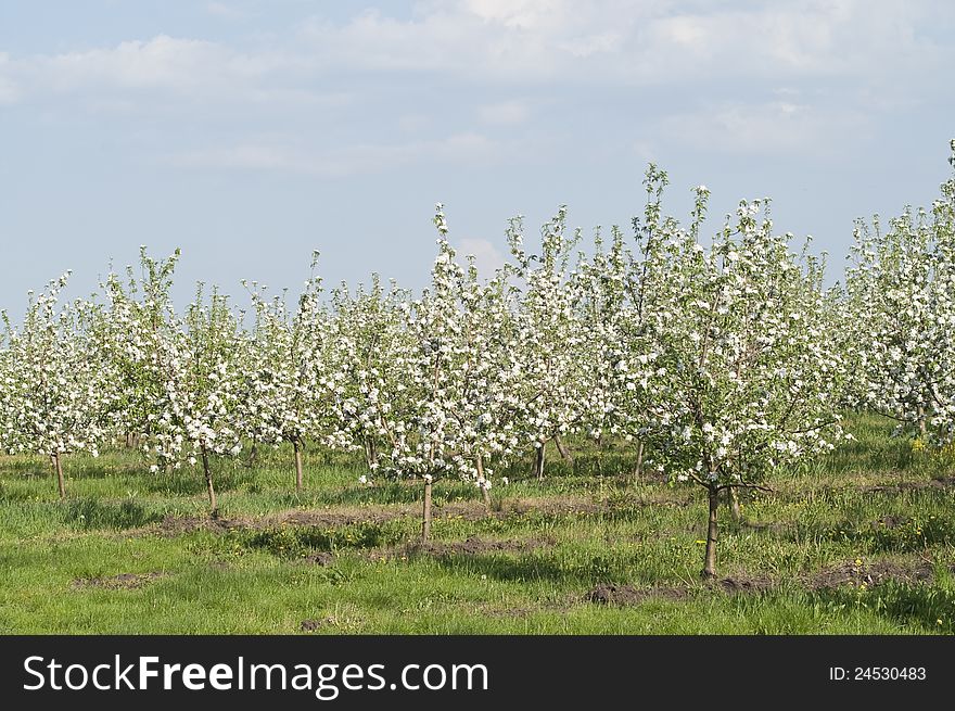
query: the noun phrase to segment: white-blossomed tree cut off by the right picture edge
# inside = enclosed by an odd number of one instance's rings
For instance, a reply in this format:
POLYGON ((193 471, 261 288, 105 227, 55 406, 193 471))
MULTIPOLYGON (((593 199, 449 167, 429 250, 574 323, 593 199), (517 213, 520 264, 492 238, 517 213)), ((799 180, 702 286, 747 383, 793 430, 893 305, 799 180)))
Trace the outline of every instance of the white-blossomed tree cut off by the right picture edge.
MULTIPOLYGON (((955 166, 955 141, 950 162, 955 166)), ((846 270, 862 404, 937 445, 955 437, 955 178, 884 231, 858 220, 846 270)))

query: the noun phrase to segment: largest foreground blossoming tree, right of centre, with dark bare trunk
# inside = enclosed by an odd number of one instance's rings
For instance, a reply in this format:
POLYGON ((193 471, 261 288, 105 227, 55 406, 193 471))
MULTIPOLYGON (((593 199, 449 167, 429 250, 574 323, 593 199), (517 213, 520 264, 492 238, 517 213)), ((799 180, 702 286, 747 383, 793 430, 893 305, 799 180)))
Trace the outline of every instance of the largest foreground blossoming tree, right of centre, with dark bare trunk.
POLYGON ((711 245, 699 240, 709 191, 688 230, 664 220, 647 268, 659 368, 654 454, 674 481, 706 493, 702 575, 716 574, 721 492, 763 488, 777 467, 833 448, 845 359, 828 332, 822 264, 773 233, 761 201, 741 202, 711 245), (668 304, 668 307, 664 305, 668 304))

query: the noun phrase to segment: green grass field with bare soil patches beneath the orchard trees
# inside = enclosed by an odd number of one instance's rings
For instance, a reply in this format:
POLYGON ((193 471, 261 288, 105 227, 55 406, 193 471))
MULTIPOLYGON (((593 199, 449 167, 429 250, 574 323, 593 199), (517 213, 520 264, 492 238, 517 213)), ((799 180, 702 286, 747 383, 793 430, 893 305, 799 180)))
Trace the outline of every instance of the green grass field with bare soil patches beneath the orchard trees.
POLYGON ((721 509, 709 586, 702 491, 634 482, 616 445, 498 472, 491 516, 438 482, 428 546, 420 485, 315 448, 302 495, 290 450, 217 461, 217 521, 200 471, 69 457, 60 501, 46 460, 0 457, 0 632, 952 634, 955 477, 887 420, 849 426, 741 521, 721 509))

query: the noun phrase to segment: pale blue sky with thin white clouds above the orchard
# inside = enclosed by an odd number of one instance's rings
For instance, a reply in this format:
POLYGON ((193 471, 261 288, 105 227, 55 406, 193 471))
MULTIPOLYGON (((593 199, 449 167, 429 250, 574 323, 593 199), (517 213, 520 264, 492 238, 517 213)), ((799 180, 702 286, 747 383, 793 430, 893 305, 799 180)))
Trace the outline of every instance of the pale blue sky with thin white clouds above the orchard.
POLYGON ((648 162, 711 232, 771 198, 830 281, 853 220, 951 175, 947 0, 0 0, 0 308, 139 246, 201 280, 423 288, 449 239, 488 274, 509 217, 629 228, 648 162))

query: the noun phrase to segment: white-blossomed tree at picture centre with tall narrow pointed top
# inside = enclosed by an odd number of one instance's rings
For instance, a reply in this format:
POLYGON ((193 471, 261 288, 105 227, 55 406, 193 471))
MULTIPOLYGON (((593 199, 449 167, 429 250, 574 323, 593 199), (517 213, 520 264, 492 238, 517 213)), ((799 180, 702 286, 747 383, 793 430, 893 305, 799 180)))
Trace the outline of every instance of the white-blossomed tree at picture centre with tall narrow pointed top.
POLYGON ((441 477, 474 481, 489 510, 489 459, 505 459, 519 444, 513 419, 520 403, 512 393, 523 380, 514 359, 506 272, 480 281, 473 259, 467 267, 456 261, 440 203, 434 224, 438 254, 431 287, 410 308, 415 360, 409 415, 416 440, 402 461, 406 472, 423 473, 425 541, 431 535, 432 485, 441 477))

